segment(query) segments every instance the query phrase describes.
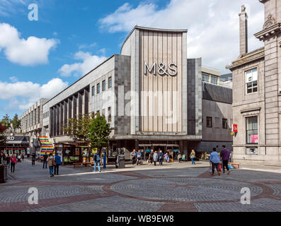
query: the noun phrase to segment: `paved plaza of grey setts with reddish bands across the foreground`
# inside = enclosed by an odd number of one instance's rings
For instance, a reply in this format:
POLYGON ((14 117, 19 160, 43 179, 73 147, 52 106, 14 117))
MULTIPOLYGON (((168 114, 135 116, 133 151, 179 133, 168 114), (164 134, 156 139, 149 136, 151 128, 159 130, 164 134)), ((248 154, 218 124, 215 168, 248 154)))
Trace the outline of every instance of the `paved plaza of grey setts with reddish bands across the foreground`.
POLYGON ((42 163, 18 162, 0 184, 0 211, 23 212, 256 212, 281 211, 280 167, 242 166, 230 175, 211 176, 209 162, 90 167, 60 167, 50 178, 42 163), (28 189, 38 189, 38 205, 28 204, 28 189), (241 189, 251 204, 241 204, 241 189))

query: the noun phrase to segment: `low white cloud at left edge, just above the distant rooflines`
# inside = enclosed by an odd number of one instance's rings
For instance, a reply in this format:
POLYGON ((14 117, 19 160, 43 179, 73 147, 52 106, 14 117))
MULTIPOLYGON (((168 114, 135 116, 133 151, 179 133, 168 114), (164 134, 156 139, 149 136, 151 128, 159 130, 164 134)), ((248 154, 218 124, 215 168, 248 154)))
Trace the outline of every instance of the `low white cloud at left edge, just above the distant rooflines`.
POLYGON ((60 78, 52 78, 52 80, 43 85, 30 81, 20 82, 15 77, 11 77, 11 81, 12 83, 0 81, 0 100, 9 101, 6 108, 17 106, 21 110, 28 109, 40 98, 54 97, 68 86, 68 83, 60 78))

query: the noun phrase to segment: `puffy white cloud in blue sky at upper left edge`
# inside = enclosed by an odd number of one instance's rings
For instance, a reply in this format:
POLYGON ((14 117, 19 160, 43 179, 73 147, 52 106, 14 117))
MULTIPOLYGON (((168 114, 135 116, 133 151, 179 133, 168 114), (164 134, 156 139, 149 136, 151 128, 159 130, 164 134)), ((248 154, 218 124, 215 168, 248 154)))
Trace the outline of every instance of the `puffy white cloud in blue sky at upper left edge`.
POLYGON ((0 23, 0 49, 6 58, 22 66, 47 64, 50 50, 55 48, 58 40, 30 36, 21 38, 18 30, 8 23, 0 23))

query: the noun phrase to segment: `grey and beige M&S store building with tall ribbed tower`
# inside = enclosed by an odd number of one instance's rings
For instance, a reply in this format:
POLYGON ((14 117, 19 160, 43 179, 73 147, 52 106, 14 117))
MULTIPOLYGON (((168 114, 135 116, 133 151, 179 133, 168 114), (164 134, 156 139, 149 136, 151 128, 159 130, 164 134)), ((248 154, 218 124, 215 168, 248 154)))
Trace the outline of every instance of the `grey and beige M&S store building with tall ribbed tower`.
MULTIPOLYGON (((230 89, 202 83, 202 59, 187 59, 186 36, 187 30, 136 26, 121 54, 45 103, 42 135, 67 143, 71 140, 63 128, 68 119, 99 112, 113 128, 112 149, 161 147, 188 153, 191 148, 209 151, 215 143, 231 149, 230 131, 222 129, 222 119, 232 120, 230 89), (217 134, 205 128, 204 117, 217 120, 211 129, 217 134)), ((219 71, 203 70, 219 77, 219 71)))

